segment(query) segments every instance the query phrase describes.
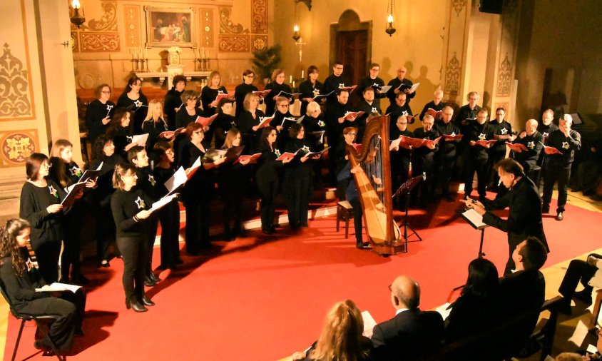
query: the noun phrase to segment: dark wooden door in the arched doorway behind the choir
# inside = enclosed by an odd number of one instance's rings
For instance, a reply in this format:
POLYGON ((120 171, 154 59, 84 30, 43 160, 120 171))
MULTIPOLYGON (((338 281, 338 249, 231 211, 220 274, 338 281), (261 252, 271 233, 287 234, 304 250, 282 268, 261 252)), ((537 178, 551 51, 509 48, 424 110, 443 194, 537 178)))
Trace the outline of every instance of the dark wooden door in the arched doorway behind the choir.
POLYGON ((343 74, 353 84, 357 84, 368 73, 367 49, 367 30, 337 32, 337 59, 342 61, 345 66, 343 74))

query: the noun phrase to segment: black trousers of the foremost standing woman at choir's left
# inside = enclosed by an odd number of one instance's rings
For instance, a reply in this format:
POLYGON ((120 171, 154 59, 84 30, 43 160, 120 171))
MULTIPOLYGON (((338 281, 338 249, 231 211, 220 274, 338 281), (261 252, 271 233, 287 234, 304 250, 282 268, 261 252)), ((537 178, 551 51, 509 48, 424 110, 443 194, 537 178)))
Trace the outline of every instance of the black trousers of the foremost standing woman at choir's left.
POLYGON ((148 260, 148 236, 117 235, 117 247, 123 258, 123 291, 126 299, 141 302, 144 295, 144 275, 148 260))

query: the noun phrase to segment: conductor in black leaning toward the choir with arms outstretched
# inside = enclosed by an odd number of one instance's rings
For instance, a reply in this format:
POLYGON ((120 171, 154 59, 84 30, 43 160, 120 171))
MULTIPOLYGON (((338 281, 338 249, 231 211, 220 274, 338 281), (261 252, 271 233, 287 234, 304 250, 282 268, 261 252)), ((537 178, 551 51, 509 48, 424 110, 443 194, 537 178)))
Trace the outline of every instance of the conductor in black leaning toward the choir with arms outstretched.
POLYGON ((544 224, 541 221, 541 198, 539 191, 535 188, 533 181, 527 178, 523 167, 506 158, 496 164, 499 178, 509 192, 496 200, 479 201, 463 200, 468 208, 474 208, 476 213, 483 215, 483 222, 499 230, 508 233, 508 245, 510 258, 506 263, 504 275, 509 275, 514 269, 514 250, 528 236, 534 236, 541 240, 549 252, 544 224), (499 218, 491 210, 504 209, 508 207, 508 219, 499 218))

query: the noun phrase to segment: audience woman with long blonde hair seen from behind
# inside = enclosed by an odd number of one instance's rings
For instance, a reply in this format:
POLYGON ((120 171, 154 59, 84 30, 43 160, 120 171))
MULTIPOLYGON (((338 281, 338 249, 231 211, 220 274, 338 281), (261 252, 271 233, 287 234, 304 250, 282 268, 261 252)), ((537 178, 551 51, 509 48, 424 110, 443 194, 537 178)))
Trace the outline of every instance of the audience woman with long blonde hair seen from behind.
POLYGON ((292 360, 370 360, 372 341, 363 331, 362 312, 355 303, 337 302, 326 315, 320 338, 310 350, 295 352, 292 360))

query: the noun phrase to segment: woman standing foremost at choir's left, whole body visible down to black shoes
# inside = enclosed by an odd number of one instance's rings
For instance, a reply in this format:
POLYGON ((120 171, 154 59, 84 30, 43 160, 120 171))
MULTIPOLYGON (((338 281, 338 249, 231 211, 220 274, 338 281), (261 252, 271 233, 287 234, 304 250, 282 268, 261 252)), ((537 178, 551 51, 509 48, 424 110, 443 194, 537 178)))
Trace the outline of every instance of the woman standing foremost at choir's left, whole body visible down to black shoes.
POLYGON ((136 189, 136 169, 130 164, 118 164, 113 173, 115 193, 111 196, 111 211, 117 228, 117 246, 123 255, 123 291, 126 308, 146 312, 154 302, 144 293, 144 273, 148 260, 148 217, 151 203, 148 195, 136 189))

